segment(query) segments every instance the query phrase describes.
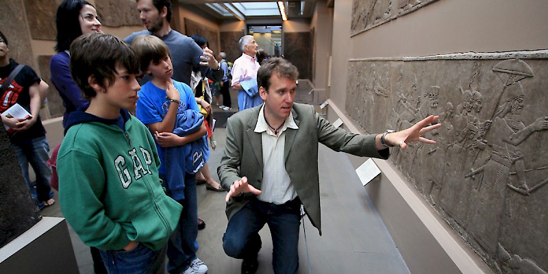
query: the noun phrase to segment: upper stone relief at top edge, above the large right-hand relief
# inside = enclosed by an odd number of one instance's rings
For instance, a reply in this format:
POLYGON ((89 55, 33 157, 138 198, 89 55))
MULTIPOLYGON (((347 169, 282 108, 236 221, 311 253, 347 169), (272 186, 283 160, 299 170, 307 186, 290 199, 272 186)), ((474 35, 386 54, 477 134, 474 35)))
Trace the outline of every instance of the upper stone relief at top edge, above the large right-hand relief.
POLYGON ((353 0, 351 35, 382 25, 437 0, 353 0))

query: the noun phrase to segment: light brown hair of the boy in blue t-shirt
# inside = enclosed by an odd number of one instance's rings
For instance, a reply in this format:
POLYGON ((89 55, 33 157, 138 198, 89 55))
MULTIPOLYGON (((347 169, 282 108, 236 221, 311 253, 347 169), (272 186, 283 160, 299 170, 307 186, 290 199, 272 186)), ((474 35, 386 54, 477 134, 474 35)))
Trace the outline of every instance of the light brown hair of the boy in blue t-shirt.
POLYGON ((142 34, 137 36, 132 43, 132 49, 135 51, 140 62, 140 69, 144 73, 149 68, 150 62, 158 64, 160 60, 164 60, 166 56, 171 58, 169 47, 162 39, 153 36, 142 34))

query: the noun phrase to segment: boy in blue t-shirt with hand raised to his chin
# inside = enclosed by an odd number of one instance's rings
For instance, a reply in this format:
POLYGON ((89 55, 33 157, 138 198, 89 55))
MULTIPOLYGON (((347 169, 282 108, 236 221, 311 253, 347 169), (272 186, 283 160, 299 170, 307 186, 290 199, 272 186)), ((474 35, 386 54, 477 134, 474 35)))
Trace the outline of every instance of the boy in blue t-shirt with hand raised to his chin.
POLYGON ((169 273, 207 273, 196 256, 198 208, 195 173, 209 150, 206 126, 190 86, 173 76, 171 54, 156 36, 137 36, 132 48, 141 71, 152 79, 138 92, 136 116, 155 136, 160 155, 160 177, 167 193, 183 206, 179 227, 168 243, 169 273))

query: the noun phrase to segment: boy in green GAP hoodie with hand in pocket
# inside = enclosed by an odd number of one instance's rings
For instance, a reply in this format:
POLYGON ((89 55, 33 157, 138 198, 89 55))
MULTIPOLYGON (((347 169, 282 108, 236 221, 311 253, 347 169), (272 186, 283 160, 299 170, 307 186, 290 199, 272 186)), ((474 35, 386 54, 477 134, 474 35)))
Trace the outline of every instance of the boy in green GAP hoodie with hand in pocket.
POLYGON ((58 153, 61 210, 112 273, 163 273, 182 206, 166 196, 145 125, 130 115, 139 62, 122 40, 92 33, 71 45, 71 73, 87 109, 69 116, 58 153))

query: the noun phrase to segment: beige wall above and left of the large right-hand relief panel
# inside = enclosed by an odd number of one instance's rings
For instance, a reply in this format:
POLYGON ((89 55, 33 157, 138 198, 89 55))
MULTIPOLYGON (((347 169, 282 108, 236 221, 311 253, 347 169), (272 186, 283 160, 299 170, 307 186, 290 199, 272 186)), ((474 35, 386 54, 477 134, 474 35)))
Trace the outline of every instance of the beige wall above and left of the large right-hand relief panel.
POLYGON ((335 1, 330 98, 343 107, 347 60, 548 47, 548 1, 438 0, 350 38, 352 1, 335 1))

